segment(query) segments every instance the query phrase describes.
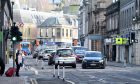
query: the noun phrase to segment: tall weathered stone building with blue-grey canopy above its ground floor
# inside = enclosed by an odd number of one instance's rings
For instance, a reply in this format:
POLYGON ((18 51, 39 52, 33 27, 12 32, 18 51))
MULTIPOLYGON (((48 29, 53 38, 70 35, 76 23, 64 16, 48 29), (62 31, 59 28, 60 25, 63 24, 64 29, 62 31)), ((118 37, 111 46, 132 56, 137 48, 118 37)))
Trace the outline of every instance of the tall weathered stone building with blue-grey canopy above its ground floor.
POLYGON ((84 46, 90 50, 104 51, 103 36, 105 35, 105 16, 106 7, 112 3, 112 0, 83 0, 80 12, 82 14, 80 29, 83 33, 80 35, 84 40, 84 46), (83 27, 83 28, 81 28, 83 27))

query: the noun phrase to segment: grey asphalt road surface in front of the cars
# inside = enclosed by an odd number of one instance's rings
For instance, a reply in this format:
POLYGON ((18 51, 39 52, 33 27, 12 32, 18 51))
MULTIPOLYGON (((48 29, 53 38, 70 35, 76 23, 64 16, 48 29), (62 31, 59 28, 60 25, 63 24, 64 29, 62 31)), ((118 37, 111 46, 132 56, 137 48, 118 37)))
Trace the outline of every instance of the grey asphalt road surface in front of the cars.
MULTIPOLYGON (((23 74, 30 78, 36 79, 38 84, 46 84, 51 81, 62 81, 62 79, 53 77, 53 66, 48 66, 47 61, 44 62, 44 69, 41 62, 37 63, 36 59, 26 58, 28 64, 31 65, 35 74, 23 74)), ((140 67, 114 67, 106 66, 105 69, 89 68, 82 69, 78 63, 76 69, 66 67, 65 80, 63 84, 140 84, 140 67)), ((60 68, 60 78, 62 77, 62 67, 60 68)), ((56 84, 56 83, 54 83, 56 84)), ((61 84, 61 83, 60 83, 61 84)))

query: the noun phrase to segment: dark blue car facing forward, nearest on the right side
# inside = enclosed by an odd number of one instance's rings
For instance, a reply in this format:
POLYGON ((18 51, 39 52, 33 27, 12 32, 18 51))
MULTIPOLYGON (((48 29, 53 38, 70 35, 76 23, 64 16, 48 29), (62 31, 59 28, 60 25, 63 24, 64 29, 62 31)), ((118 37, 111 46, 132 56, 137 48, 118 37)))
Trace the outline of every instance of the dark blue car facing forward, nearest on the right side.
POLYGON ((100 67, 105 68, 106 57, 100 51, 86 51, 82 60, 82 68, 100 67))

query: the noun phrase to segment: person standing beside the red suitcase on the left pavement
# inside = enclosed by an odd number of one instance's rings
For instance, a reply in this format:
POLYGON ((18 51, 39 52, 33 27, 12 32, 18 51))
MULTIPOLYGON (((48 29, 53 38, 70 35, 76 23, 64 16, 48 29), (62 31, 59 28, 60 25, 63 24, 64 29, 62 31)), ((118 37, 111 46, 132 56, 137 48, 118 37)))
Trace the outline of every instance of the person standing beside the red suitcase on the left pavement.
POLYGON ((23 65, 22 51, 18 50, 16 53, 16 76, 19 77, 20 67, 23 65))

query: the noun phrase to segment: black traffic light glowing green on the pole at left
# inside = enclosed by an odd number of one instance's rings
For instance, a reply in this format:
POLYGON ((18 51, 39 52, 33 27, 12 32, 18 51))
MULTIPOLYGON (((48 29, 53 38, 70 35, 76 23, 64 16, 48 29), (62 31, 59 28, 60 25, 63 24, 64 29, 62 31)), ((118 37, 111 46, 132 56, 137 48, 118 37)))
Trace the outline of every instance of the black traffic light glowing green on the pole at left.
POLYGON ((11 41, 20 42, 22 41, 22 33, 19 31, 18 26, 12 26, 10 30, 11 41))

